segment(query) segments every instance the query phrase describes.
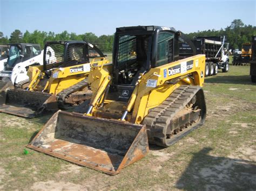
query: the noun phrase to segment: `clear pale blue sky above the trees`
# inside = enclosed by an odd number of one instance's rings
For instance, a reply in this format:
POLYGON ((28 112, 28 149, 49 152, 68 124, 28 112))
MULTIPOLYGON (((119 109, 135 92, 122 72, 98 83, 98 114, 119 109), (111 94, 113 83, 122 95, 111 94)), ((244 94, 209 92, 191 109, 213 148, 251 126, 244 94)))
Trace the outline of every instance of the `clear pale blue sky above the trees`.
POLYGON ((234 19, 255 26, 255 10, 255 0, 0 0, 0 31, 8 37, 15 29, 100 36, 121 26, 158 25, 190 33, 224 29, 234 19))

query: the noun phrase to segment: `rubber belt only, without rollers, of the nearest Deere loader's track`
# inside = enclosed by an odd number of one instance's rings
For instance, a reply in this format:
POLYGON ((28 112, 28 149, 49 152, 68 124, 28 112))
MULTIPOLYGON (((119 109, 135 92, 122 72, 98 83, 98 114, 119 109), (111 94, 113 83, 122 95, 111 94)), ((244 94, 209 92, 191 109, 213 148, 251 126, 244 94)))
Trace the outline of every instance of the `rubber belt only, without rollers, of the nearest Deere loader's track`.
POLYGON ((163 103, 149 112, 143 123, 150 130, 150 143, 164 147, 170 146, 195 129, 189 126, 177 135, 173 135, 168 139, 168 144, 165 144, 167 125, 199 90, 198 86, 180 86, 163 103))

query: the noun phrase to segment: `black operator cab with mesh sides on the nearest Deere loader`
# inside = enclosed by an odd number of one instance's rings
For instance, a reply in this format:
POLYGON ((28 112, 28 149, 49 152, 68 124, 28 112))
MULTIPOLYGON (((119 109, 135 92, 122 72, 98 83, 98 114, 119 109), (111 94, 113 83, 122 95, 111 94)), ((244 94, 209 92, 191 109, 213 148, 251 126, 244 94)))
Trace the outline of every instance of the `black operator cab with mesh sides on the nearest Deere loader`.
POLYGON ((178 60, 180 35, 170 27, 117 28, 113 47, 113 80, 106 99, 129 101, 140 73, 178 60))

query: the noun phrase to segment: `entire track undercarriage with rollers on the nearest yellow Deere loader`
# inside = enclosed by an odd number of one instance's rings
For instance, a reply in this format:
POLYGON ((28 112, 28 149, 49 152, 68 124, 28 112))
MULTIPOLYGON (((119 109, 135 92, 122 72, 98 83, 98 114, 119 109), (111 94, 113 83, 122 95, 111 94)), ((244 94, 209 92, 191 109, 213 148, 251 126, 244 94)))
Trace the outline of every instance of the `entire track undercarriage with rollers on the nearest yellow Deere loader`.
POLYGON ((149 143, 170 146, 205 121, 203 90, 197 86, 180 86, 163 103, 145 117, 149 143))

